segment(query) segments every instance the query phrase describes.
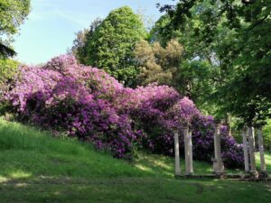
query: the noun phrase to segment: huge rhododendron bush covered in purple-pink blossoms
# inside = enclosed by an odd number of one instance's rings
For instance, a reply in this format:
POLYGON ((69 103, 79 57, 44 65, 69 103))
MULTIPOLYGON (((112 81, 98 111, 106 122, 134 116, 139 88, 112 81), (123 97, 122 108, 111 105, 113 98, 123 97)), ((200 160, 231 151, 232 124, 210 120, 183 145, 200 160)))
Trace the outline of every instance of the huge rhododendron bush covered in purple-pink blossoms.
MULTIPOLYGON (((173 155, 173 129, 191 124, 194 159, 210 161, 214 119, 201 115, 187 97, 155 84, 124 88, 105 71, 81 66, 62 55, 41 67, 21 67, 14 88, 5 93, 18 119, 93 143, 117 158, 133 150, 173 155)), ((229 167, 243 164, 242 146, 221 126, 222 155, 229 167)))

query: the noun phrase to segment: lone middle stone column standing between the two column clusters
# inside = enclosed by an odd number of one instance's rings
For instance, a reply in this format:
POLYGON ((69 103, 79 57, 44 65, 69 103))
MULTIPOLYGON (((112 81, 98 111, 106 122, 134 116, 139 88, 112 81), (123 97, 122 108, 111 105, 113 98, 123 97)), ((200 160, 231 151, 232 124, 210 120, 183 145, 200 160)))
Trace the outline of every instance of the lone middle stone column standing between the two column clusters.
POLYGON ((216 167, 214 171, 215 173, 221 174, 224 172, 224 164, 221 157, 220 125, 215 125, 214 148, 215 148, 214 161, 216 161, 216 167))

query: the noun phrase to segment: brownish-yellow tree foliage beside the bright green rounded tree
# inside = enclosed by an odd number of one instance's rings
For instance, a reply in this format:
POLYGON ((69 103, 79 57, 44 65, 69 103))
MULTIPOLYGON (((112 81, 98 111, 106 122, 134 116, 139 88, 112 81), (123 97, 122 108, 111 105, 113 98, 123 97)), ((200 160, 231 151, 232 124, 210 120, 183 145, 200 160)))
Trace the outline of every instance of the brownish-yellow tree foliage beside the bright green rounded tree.
POLYGON ((138 84, 147 85, 157 82, 159 85, 172 86, 182 60, 182 50, 182 44, 176 40, 167 42, 165 48, 159 42, 136 43, 134 56, 140 70, 137 77, 138 84))

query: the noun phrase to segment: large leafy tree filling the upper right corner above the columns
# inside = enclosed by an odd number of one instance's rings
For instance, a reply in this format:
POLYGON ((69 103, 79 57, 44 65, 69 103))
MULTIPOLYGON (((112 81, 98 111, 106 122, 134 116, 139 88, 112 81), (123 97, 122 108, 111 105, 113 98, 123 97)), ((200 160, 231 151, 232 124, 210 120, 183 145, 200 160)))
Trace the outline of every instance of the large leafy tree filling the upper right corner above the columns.
POLYGON ((236 115, 250 125, 270 116, 271 92, 271 1, 254 2, 182 0, 161 7, 168 23, 156 29, 158 39, 177 33, 188 60, 210 62, 212 101, 220 113, 236 115))

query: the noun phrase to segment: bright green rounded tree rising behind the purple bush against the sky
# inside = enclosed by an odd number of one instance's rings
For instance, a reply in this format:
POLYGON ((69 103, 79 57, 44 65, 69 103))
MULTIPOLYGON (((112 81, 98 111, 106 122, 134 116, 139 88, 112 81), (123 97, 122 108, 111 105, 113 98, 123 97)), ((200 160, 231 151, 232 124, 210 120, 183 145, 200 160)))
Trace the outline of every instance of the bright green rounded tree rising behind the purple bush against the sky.
POLYGON ((120 7, 108 14, 86 43, 86 64, 105 69, 126 86, 133 87, 138 74, 133 50, 135 43, 145 37, 140 17, 131 8, 120 7))

